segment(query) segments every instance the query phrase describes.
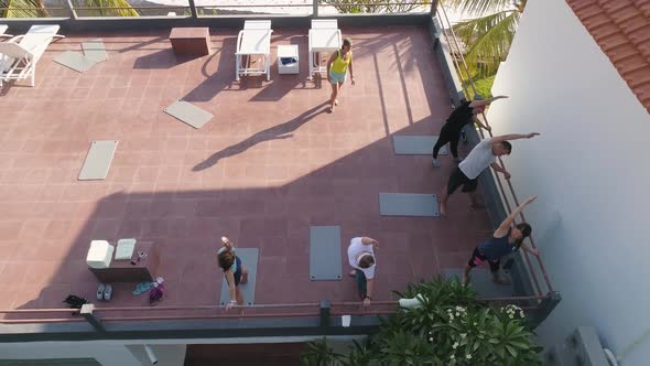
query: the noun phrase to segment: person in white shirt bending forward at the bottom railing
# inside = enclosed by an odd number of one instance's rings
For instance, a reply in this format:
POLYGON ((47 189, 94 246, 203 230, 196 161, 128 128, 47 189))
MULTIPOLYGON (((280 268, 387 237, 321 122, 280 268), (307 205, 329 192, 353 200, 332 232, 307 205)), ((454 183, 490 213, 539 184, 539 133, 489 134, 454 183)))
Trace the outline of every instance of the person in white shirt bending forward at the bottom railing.
POLYGON ((373 248, 377 248, 379 243, 369 237, 356 237, 350 240, 347 248, 347 257, 354 270, 350 276, 357 279, 357 289, 359 290, 359 298, 364 301, 364 306, 368 306, 372 300, 372 291, 375 289, 375 259, 373 248))

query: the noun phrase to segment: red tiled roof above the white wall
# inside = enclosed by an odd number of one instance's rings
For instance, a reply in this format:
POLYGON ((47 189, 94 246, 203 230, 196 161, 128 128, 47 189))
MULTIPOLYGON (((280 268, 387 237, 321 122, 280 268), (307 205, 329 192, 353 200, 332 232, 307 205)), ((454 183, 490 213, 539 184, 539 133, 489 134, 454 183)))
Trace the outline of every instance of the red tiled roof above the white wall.
POLYGON ((650 0, 566 0, 650 112, 650 0))

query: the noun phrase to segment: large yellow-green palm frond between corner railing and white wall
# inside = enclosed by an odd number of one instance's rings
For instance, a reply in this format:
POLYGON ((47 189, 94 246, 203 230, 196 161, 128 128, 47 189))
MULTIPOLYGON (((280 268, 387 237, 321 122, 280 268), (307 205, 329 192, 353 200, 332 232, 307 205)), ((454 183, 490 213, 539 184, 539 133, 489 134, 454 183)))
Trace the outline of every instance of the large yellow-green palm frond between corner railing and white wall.
POLYGON ((501 11, 454 25, 454 31, 467 46, 465 61, 470 75, 494 75, 506 60, 514 31, 518 11, 501 11))

